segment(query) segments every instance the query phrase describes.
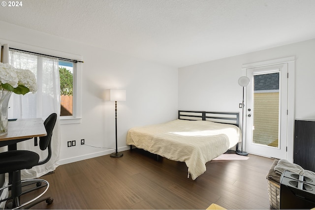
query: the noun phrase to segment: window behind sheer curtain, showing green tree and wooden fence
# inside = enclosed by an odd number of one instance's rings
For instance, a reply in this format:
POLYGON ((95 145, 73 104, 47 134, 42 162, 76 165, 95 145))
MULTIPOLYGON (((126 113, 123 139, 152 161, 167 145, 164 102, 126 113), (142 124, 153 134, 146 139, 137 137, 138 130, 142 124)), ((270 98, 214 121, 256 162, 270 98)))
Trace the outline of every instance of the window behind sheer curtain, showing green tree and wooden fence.
MULTIPOLYGON (((24 113, 31 114, 32 116, 36 116, 36 112, 38 112, 38 107, 50 106, 50 104, 46 104, 46 99, 42 101, 39 100, 40 97, 52 97, 56 98, 54 100, 60 99, 60 123, 61 124, 69 124, 69 123, 80 123, 81 122, 81 89, 77 87, 81 87, 81 62, 62 60, 60 58, 50 57, 47 55, 36 54, 32 52, 25 52, 20 50, 9 50, 10 64, 14 64, 15 67, 30 69, 36 76, 37 80, 37 88, 39 91, 35 94, 27 94, 26 97, 23 97, 20 100, 22 102, 17 102, 16 100, 12 100, 15 107, 15 110, 24 110, 26 103, 31 103, 32 105, 28 105, 27 107, 31 107, 31 110, 25 110, 24 113), (54 60, 54 61, 50 61, 54 60), (52 68, 57 68, 57 74, 50 73, 52 68), (59 70, 59 72, 58 72, 59 70), (59 82, 55 83, 52 78, 58 78, 59 82), (61 93, 60 95, 51 95, 46 94, 47 89, 51 89, 51 86, 60 85, 61 93), (23 104, 21 107, 20 104, 23 104), (37 107, 37 108, 36 108, 37 107)), ((12 108, 13 108, 12 107, 12 108)), ((11 113, 14 112, 11 109, 11 113)), ((24 114, 24 115, 25 115, 24 114)))

